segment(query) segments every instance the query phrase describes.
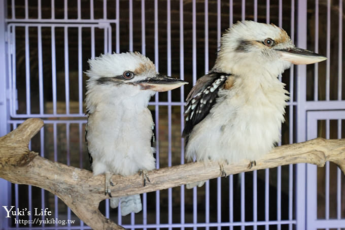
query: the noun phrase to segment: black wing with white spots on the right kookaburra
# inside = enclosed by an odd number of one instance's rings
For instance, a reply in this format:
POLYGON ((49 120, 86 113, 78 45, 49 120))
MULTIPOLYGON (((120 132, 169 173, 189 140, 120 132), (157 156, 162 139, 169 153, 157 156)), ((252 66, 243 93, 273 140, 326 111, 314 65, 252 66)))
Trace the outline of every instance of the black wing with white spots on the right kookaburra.
MULTIPOLYGON (((187 96, 185 128, 182 136, 187 138, 193 127, 204 119, 216 103, 218 91, 229 74, 211 72, 199 78, 187 96)), ((186 139, 187 141, 187 139, 186 139)))

